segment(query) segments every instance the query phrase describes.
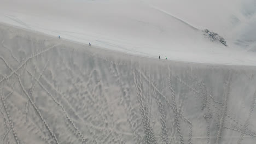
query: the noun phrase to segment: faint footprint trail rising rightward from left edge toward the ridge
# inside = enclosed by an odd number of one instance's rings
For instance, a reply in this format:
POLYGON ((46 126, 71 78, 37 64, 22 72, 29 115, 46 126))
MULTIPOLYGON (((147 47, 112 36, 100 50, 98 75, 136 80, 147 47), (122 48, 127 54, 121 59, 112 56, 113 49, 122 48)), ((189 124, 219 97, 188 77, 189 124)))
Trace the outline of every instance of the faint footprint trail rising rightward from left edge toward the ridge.
MULTIPOLYGON (((16 73, 19 69, 21 69, 30 59, 32 59, 32 58, 34 58, 34 57, 37 57, 37 56, 39 56, 39 55, 42 55, 43 53, 45 53, 45 52, 47 52, 47 51, 49 51, 49 50, 55 48, 56 46, 58 46, 58 45, 60 45, 60 44, 61 44, 61 43, 56 44, 56 45, 54 45, 54 46, 49 47, 49 48, 46 49, 46 50, 43 50, 43 51, 41 51, 41 52, 38 52, 38 53, 36 53, 36 54, 30 56, 30 57, 27 58, 27 60, 26 60, 24 63, 22 63, 16 70, 11 70, 11 73, 10 73, 8 76, 4 77, 4 79, 0 80, 0 83, 1 83, 2 81, 4 81, 4 80, 9 79, 9 77, 11 77, 14 73, 16 73)), ((0 58, 3 59, 2 57, 0 57, 0 58)), ((3 61, 4 61, 4 59, 3 59, 3 61)), ((7 62, 4 61, 4 63, 8 65, 7 62)), ((10 67, 9 67, 9 68, 10 68, 10 67)))

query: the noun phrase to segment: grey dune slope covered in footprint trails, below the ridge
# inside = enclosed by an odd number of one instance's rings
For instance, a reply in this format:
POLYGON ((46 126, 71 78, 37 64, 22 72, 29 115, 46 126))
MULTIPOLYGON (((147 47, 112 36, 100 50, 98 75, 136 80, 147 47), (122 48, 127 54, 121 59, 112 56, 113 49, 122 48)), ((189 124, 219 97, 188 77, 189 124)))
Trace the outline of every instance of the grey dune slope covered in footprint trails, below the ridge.
POLYGON ((0 26, 3 143, 254 143, 256 68, 170 62, 0 26))

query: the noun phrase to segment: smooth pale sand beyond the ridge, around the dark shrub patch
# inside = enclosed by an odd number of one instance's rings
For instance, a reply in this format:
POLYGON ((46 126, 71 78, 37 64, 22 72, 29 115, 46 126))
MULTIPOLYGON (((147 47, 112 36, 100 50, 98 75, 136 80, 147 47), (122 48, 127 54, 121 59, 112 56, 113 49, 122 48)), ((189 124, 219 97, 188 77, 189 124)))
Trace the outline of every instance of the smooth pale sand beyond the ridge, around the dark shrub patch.
POLYGON ((132 55, 256 64, 255 0, 2 0, 0 22, 132 55), (219 34, 228 46, 209 38, 219 34))

